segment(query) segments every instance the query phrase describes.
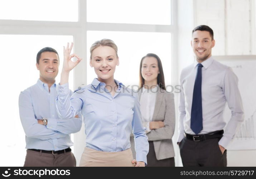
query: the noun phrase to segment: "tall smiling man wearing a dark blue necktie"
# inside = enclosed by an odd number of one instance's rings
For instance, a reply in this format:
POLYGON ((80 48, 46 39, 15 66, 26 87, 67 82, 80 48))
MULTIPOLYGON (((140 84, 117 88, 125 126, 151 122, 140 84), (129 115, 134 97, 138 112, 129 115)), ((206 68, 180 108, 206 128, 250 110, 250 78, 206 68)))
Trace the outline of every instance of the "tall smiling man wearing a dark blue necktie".
POLYGON ((183 166, 227 166, 226 147, 243 121, 238 79, 230 67, 212 58, 214 45, 209 26, 192 31, 196 60, 180 75, 177 143, 183 166), (223 118, 226 102, 232 114, 228 124, 223 118))

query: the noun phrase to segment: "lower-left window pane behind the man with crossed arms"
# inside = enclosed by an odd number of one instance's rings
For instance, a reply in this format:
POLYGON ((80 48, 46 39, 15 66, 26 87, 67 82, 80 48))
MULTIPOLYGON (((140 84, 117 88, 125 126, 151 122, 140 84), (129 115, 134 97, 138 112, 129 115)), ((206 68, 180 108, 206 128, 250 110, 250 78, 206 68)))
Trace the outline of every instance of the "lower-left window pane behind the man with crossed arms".
MULTIPOLYGON (((56 82, 60 81, 63 64, 63 45, 73 42, 73 36, 54 35, 0 35, 1 71, 0 125, 1 153, 0 166, 23 166, 25 161, 25 133, 19 117, 19 94, 32 86, 39 78, 37 52, 44 47, 52 47, 59 53, 60 66, 56 82)), ((73 73, 69 78, 73 87, 73 73)))

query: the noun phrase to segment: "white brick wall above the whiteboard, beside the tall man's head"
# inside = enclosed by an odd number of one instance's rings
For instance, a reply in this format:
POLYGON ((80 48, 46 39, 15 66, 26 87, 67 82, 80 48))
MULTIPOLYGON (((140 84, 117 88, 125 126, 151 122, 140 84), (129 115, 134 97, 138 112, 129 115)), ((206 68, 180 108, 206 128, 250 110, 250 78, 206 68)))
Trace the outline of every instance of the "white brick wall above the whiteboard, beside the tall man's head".
POLYGON ((194 0, 194 23, 209 25, 213 55, 252 55, 255 50, 255 0, 194 0))

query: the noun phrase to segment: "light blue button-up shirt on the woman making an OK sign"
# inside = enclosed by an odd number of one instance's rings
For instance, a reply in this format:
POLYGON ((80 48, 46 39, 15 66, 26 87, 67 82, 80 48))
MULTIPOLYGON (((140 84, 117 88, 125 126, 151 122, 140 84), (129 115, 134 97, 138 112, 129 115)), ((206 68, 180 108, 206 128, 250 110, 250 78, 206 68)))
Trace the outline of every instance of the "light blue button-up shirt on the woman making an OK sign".
POLYGON ((138 95, 119 81, 115 82, 118 88, 114 96, 107 91, 106 84, 96 78, 91 84, 76 90, 71 98, 68 83, 58 85, 58 114, 61 118, 72 118, 82 111, 86 147, 98 151, 129 149, 133 131, 136 160, 146 163, 149 143, 141 122, 138 95))

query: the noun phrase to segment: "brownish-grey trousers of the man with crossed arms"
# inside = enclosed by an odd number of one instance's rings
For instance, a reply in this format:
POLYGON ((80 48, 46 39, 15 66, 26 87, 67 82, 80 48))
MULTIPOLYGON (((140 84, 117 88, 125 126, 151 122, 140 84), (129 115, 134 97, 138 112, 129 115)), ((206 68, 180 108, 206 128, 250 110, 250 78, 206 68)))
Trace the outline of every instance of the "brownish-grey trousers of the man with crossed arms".
POLYGON ((27 150, 24 166, 76 166, 76 159, 71 151, 53 155, 27 150))

